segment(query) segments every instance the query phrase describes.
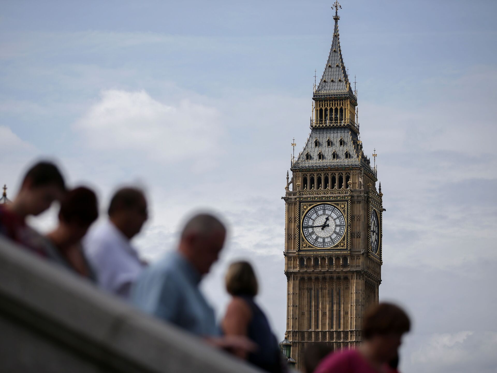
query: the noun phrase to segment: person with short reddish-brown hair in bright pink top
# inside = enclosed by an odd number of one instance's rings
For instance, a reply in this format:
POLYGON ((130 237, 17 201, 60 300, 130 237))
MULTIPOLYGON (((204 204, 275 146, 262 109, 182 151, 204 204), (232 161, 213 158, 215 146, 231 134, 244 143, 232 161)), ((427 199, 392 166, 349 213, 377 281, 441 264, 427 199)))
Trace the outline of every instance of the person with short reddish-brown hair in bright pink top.
POLYGON ((406 312, 391 303, 373 306, 364 317, 363 342, 355 349, 331 353, 315 373, 392 373, 389 362, 397 356, 402 335, 411 329, 406 312))

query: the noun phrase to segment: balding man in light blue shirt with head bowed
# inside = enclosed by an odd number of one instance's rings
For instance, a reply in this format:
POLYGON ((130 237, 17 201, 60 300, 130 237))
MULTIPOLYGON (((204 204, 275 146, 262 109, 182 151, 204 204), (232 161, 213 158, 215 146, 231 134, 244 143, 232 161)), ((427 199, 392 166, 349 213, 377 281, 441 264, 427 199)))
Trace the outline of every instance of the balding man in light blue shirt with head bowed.
POLYGON ((220 336, 214 310, 200 292, 199 282, 218 259, 225 237, 226 228, 214 216, 191 218, 181 233, 178 250, 142 272, 132 288, 132 302, 199 337, 220 336))

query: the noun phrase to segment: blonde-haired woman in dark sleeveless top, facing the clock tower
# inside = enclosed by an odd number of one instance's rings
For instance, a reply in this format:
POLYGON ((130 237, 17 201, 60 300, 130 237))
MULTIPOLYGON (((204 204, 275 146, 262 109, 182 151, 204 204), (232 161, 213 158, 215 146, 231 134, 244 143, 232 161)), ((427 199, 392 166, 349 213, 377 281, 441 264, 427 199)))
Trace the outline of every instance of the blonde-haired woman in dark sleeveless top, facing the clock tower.
POLYGON ((226 290, 233 298, 222 321, 226 336, 246 336, 257 345, 251 353, 237 355, 266 372, 282 372, 281 354, 264 312, 254 302, 258 284, 248 262, 235 262, 226 273, 226 290))

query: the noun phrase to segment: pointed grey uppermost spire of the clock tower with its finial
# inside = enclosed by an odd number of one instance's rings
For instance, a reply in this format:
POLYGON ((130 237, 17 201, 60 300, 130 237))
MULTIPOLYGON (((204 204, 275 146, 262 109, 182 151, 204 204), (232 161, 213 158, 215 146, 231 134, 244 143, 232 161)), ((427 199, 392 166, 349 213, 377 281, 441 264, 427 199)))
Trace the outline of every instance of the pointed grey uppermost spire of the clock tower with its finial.
POLYGON ((335 21, 335 26, 333 29, 333 41, 331 42, 330 55, 328 56, 328 61, 325 66, 325 71, 319 82, 318 88, 314 93, 315 97, 326 96, 333 93, 344 94, 352 93, 350 90, 350 83, 348 81, 347 69, 343 64, 343 58, 340 48, 340 39, 338 33, 338 8, 341 5, 338 1, 335 1, 332 8, 335 9, 335 15, 333 19, 335 21))

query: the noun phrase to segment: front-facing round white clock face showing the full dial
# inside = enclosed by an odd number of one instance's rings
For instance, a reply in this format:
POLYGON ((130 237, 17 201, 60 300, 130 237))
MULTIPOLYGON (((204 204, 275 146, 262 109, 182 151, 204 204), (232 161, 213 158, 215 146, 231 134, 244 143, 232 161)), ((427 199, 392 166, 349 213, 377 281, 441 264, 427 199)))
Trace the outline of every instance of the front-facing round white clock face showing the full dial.
POLYGON ((317 204, 304 215, 302 233, 313 246, 319 248, 334 246, 345 233, 345 217, 332 204, 317 204))

